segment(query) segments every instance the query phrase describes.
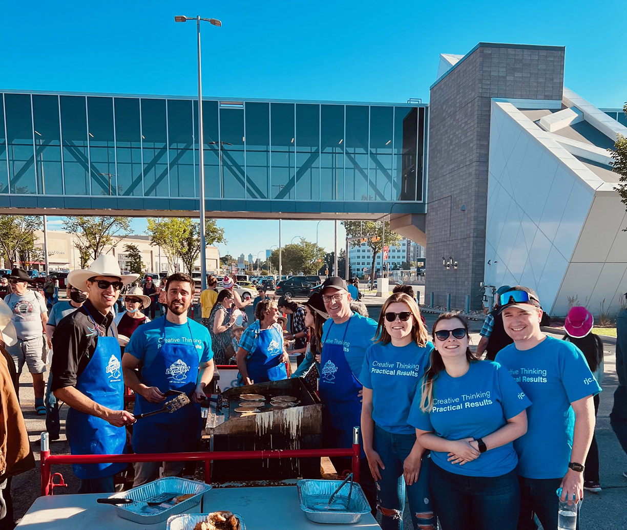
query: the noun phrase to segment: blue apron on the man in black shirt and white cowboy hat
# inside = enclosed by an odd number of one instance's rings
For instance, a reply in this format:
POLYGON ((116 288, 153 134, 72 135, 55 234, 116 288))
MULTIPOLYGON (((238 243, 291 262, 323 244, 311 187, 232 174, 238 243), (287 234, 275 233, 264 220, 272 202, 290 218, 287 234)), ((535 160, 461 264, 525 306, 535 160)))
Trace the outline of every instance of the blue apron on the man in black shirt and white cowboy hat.
MULTIPOLYGON (((87 311, 87 308, 85 308, 87 311)), ((89 314, 89 311, 87 311, 89 314)), ((103 407, 112 410, 124 408, 124 380, 122 379, 122 356, 120 345, 115 337, 105 333, 96 325, 98 341, 87 367, 76 380, 75 388, 103 407)), ((117 455, 126 452, 126 429, 113 427, 105 420, 68 410, 66 434, 73 455, 117 455)), ((101 479, 111 477, 126 469, 128 464, 73 464, 74 474, 79 479, 101 479)))

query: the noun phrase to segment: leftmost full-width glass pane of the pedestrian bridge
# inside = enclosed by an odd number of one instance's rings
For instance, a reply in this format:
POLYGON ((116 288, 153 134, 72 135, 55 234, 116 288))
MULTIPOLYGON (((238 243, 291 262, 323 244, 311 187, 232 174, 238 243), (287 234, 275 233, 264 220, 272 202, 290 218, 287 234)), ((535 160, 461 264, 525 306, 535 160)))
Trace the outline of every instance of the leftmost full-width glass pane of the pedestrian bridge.
POLYGON ((11 193, 36 194, 31 96, 5 94, 4 107, 11 193))

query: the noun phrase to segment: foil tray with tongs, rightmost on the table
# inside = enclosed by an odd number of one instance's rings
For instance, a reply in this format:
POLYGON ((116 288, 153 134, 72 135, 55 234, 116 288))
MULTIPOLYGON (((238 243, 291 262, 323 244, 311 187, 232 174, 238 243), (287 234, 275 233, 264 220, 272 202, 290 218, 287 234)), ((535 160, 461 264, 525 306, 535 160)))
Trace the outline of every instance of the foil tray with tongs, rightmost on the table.
MULTIPOLYGON (((327 524, 355 524, 361 516, 370 512, 370 504, 359 484, 353 484, 350 504, 346 511, 326 511, 315 509, 316 504, 327 504, 329 497, 342 481, 303 480, 298 481, 298 500, 305 517, 313 522, 327 524)), ((335 499, 345 501, 349 495, 350 483, 344 484, 335 499)), ((335 501, 334 501, 335 502, 335 501)))

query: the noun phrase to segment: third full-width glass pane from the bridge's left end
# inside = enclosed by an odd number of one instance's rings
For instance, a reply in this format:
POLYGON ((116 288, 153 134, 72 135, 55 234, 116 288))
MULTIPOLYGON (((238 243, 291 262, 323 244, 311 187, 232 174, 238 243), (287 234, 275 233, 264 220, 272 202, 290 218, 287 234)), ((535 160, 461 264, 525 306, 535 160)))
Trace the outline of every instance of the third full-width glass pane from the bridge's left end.
POLYGON ((90 194, 85 96, 60 96, 63 175, 67 195, 90 194))

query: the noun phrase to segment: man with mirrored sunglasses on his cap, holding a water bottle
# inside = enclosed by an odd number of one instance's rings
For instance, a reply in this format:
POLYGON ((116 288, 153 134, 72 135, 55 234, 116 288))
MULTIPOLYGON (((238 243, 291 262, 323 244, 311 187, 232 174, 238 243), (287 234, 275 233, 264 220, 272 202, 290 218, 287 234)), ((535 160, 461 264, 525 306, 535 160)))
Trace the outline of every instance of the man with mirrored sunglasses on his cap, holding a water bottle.
MULTIPOLYGON (((540 330, 542 308, 532 289, 515 286, 500 296, 503 326, 514 344, 497 354, 531 400, 527 433, 514 440, 519 457, 519 530, 557 530, 559 497, 583 498, 584 462, 594 434, 593 396, 601 392, 584 355, 540 330)), ((577 517, 577 528, 579 518, 577 517)))

